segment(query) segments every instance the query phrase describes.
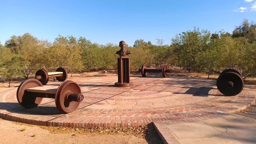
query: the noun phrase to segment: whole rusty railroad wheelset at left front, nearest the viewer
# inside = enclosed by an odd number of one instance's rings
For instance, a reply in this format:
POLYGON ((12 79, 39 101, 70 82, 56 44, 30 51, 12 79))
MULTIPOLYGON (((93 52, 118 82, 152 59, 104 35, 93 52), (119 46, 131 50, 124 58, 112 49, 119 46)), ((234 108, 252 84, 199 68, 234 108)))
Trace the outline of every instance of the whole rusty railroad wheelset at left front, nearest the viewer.
POLYGON ((80 87, 73 81, 64 81, 58 88, 53 89, 50 86, 43 86, 37 79, 22 82, 16 97, 24 108, 37 107, 42 98, 55 99, 56 107, 63 113, 73 112, 84 99, 80 87))

